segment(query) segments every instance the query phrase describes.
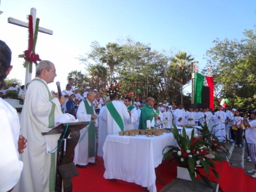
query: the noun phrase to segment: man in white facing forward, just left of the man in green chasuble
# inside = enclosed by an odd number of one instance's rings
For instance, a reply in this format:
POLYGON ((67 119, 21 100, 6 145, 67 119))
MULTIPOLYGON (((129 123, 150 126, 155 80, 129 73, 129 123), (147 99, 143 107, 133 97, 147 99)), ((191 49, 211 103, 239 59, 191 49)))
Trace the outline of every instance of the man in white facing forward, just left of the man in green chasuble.
POLYGON ((125 97, 125 106, 127 107, 128 113, 130 114, 130 118, 124 120, 124 130, 132 130, 135 129, 135 124, 138 119, 138 112, 134 105, 131 105, 131 98, 125 97))

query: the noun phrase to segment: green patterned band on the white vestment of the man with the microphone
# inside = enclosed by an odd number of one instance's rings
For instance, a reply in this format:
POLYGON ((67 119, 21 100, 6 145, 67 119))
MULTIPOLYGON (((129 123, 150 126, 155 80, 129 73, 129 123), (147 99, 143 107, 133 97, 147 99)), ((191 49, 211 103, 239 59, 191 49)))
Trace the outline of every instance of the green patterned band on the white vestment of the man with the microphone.
MULTIPOLYGON (((54 128, 54 111, 55 111, 55 103, 52 102, 52 93, 49 91, 49 88, 47 86, 47 84, 45 84, 45 82, 42 79, 33 79, 32 81, 40 81, 42 84, 44 84, 44 86, 46 87, 47 91, 48 91, 48 96, 49 96, 49 101, 52 103, 52 108, 50 111, 50 114, 48 116, 48 128, 54 128)), ((55 191, 55 177, 56 177, 56 153, 52 153, 51 154, 51 166, 50 166, 50 177, 49 177, 49 192, 53 192, 55 191)))

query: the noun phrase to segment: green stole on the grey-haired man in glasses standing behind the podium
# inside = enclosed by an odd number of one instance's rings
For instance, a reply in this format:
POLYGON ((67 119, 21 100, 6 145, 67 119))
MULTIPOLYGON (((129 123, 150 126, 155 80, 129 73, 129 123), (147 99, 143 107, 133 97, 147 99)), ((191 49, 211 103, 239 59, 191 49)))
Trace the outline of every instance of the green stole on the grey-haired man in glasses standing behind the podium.
MULTIPOLYGON (((93 115, 94 110, 93 110, 93 104, 91 106, 87 102, 87 99, 84 99, 84 106, 87 115, 93 115)), ((91 119, 93 121, 94 119, 91 119)), ((91 123, 88 127, 88 157, 95 157, 95 143, 96 141, 96 128, 94 123, 91 123)))

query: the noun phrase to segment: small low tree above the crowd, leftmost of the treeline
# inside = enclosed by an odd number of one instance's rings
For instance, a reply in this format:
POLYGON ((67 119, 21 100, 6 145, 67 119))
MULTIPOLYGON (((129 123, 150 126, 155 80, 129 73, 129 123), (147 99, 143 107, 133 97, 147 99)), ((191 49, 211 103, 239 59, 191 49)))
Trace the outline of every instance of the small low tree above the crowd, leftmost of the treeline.
MULTIPOLYGON (((81 92, 85 90, 86 86, 90 86, 90 78, 88 78, 85 74, 81 71, 71 71, 67 75, 67 80, 72 77, 74 79, 74 87, 79 88, 81 92)), ((66 85, 65 85, 66 86, 66 85)))

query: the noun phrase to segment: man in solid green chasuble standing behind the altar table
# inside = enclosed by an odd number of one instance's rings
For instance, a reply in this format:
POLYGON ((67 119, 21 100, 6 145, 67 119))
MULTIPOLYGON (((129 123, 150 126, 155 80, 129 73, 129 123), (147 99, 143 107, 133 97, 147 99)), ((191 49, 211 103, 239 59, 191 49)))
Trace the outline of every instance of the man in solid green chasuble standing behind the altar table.
POLYGON ((158 119, 158 115, 153 111, 155 100, 153 97, 148 97, 146 105, 141 110, 140 113, 140 123, 139 129, 146 129, 146 121, 151 121, 151 128, 154 128, 155 120, 158 119))

